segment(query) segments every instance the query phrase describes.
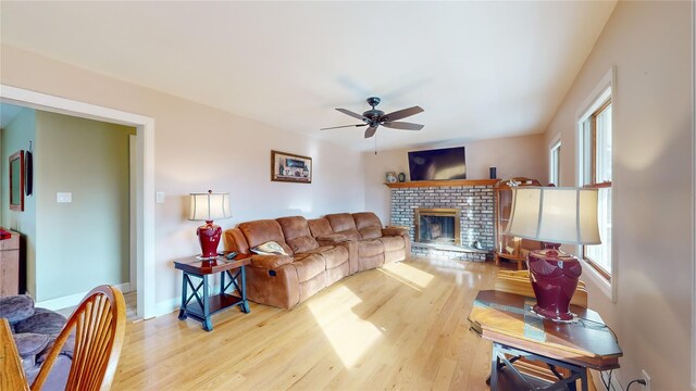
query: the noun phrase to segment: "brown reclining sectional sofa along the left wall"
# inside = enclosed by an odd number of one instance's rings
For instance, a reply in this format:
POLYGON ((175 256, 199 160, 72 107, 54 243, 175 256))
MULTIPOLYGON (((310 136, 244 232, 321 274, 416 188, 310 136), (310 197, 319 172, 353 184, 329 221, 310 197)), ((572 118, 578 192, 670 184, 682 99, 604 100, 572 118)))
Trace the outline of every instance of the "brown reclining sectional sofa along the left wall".
POLYGON ((289 308, 339 279, 406 260, 408 231, 383 228, 370 212, 306 219, 281 217, 240 223, 225 231, 227 247, 252 254, 247 295, 257 303, 289 308), (251 249, 274 241, 288 255, 258 255, 251 249))

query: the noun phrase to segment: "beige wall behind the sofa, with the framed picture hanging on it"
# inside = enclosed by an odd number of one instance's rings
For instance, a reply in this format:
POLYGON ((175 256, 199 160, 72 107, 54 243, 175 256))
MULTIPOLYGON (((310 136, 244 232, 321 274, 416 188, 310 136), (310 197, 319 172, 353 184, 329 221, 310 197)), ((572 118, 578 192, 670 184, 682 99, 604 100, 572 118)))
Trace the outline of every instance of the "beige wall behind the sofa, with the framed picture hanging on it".
POLYGON ((231 193, 233 217, 216 222, 223 229, 250 218, 364 207, 359 152, 11 47, 1 50, 4 85, 154 118, 154 187, 166 194, 154 211, 158 311, 178 299, 181 276, 172 261, 200 251, 198 223, 186 219, 189 192, 231 193), (312 156, 313 182, 272 182, 272 149, 312 156))

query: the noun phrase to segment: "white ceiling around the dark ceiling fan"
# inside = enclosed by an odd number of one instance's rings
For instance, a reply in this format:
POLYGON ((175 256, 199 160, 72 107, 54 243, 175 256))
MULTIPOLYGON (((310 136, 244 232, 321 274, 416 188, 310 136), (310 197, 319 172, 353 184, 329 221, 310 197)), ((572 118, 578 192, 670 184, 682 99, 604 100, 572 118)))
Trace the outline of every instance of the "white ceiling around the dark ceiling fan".
POLYGON ((616 1, 0 2, 2 43, 279 129, 374 148, 335 108, 421 131, 380 149, 540 133, 616 1))

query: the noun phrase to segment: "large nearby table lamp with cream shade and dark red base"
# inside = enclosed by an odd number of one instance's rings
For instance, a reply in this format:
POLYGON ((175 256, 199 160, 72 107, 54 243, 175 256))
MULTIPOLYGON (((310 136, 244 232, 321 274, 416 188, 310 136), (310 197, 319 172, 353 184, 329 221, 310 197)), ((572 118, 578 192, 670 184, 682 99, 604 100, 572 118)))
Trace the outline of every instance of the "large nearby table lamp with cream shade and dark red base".
POLYGON ((557 321, 573 319, 570 300, 582 274, 580 261, 559 250, 561 243, 599 244, 597 189, 569 187, 512 188, 512 212, 505 231, 538 240, 543 250, 527 255, 536 297, 534 312, 557 321))

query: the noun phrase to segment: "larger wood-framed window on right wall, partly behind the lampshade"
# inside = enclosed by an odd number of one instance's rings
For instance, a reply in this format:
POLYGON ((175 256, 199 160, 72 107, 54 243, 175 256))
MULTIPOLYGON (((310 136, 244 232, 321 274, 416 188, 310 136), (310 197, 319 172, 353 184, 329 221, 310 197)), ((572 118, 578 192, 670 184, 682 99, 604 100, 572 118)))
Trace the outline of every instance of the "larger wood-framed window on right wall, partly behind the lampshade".
POLYGON ((581 185, 599 189, 598 222, 601 244, 584 245, 583 257, 611 281, 611 88, 592 104, 580 123, 581 185))

